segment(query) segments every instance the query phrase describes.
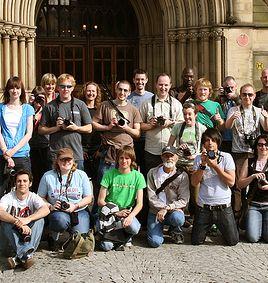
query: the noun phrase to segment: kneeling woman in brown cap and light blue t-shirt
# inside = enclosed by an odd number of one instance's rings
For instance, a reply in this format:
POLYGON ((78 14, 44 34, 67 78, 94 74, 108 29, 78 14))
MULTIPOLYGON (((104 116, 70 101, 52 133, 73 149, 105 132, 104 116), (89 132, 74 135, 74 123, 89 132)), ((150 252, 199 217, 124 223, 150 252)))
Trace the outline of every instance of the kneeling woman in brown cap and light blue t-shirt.
POLYGON ((58 151, 54 169, 43 175, 38 194, 51 211, 48 216, 51 249, 55 248, 61 232, 88 233, 87 206, 92 202, 92 185, 87 174, 76 169, 70 148, 58 151))

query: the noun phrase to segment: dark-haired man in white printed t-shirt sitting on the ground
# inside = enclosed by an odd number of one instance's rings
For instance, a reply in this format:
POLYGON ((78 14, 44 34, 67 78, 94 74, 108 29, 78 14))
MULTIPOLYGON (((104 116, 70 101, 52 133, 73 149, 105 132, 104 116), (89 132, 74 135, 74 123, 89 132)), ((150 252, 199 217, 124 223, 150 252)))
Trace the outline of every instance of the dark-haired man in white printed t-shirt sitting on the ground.
POLYGON ((43 217, 49 214, 44 201, 30 192, 32 175, 19 170, 15 177, 16 190, 0 200, 1 230, 11 244, 15 257, 7 259, 8 267, 21 265, 25 269, 33 264, 33 253, 37 249, 43 232, 43 217))

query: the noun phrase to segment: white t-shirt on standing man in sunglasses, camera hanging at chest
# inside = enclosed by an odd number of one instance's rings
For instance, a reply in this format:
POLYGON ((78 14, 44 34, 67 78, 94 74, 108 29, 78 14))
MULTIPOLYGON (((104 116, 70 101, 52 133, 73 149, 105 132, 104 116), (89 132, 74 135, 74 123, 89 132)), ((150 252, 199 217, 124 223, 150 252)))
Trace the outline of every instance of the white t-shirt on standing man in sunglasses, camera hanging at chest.
MULTIPOLYGON (((236 111, 240 111, 239 106, 232 107, 228 111, 227 119, 229 119, 236 111)), ((233 132, 232 152, 236 152, 236 153, 253 152, 250 145, 245 143, 245 134, 250 135, 251 133, 253 133, 257 137, 260 134, 261 120, 264 120, 263 116, 261 115, 261 108, 253 106, 253 108, 251 107, 244 109, 244 115, 241 115, 241 117, 235 119, 232 126, 232 132, 233 132), (254 119, 254 111, 256 113, 255 119, 254 119)))

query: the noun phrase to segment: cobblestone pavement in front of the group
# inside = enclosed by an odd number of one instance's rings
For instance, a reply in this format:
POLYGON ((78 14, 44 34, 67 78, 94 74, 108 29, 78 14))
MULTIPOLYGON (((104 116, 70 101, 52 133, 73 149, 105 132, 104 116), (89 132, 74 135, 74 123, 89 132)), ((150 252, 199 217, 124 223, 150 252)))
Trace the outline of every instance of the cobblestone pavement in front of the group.
MULTIPOLYGON (((46 249, 35 253, 36 264, 26 270, 6 270, 1 258, 0 282, 268 282, 268 246, 240 242, 222 245, 220 237, 191 246, 169 239, 149 248, 145 234, 128 251, 96 251, 87 258, 65 260, 46 249)), ((44 244, 43 244, 44 246, 44 244)))

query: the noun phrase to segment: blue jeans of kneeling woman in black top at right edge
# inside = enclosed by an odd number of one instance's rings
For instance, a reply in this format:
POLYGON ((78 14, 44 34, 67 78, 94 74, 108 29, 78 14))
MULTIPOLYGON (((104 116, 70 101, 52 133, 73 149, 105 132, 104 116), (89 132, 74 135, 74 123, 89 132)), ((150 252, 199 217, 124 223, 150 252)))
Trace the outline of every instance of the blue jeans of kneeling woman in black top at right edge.
POLYGON ((246 236, 251 243, 256 243, 261 238, 268 242, 268 205, 254 203, 249 206, 246 236))

